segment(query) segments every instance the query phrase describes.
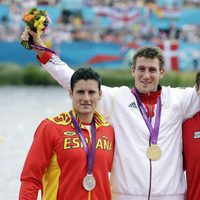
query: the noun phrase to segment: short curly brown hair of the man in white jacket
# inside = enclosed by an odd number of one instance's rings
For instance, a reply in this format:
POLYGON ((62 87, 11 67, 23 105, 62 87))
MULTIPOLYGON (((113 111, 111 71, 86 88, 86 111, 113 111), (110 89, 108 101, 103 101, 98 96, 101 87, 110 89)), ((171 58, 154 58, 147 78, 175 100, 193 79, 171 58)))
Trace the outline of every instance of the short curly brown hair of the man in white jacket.
POLYGON ((159 67, 160 69, 164 68, 164 55, 162 50, 159 47, 153 47, 153 46, 145 46, 139 48, 136 53, 133 56, 133 67, 135 68, 136 60, 138 57, 145 57, 154 59, 157 58, 159 61, 159 67))

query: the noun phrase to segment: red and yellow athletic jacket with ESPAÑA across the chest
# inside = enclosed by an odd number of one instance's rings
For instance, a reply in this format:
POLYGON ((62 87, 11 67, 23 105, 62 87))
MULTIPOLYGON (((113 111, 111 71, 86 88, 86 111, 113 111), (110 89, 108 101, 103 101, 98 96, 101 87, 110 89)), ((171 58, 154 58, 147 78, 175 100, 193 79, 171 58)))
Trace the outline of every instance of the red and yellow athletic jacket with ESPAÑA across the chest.
MULTIPOLYGON (((42 121, 36 130, 21 174, 19 200, 36 200, 40 189, 43 200, 111 199, 108 173, 113 160, 114 131, 98 113, 94 119, 96 187, 91 192, 83 188, 87 174, 86 153, 69 113, 62 113, 42 121)), ((90 143, 89 132, 83 124, 81 128, 90 143)))

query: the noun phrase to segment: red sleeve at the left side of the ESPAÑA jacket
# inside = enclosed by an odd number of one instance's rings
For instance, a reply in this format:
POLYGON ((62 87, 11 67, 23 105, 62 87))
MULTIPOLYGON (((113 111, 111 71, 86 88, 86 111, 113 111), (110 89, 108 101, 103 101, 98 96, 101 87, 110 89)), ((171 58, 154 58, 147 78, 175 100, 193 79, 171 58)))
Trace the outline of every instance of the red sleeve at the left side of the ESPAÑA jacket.
POLYGON ((53 136, 47 124, 44 120, 35 132, 21 173, 19 200, 37 200, 38 191, 42 189, 42 177, 53 151, 53 136))

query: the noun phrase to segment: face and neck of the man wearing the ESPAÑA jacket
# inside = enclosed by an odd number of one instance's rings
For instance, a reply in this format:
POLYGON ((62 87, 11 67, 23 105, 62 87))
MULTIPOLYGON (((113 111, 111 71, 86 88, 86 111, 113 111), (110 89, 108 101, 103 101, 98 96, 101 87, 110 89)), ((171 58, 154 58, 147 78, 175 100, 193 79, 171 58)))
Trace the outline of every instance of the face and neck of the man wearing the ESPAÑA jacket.
POLYGON ((90 123, 102 94, 98 82, 92 79, 79 80, 69 94, 77 116, 82 122, 90 123))

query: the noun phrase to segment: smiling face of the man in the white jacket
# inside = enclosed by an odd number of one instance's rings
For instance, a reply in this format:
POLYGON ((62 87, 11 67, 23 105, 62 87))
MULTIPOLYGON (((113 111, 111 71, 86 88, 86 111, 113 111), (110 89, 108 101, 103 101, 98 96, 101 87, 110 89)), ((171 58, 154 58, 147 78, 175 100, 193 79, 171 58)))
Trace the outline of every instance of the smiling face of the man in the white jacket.
POLYGON ((135 78, 135 87, 138 92, 148 94, 157 91, 164 72, 164 68, 160 69, 157 58, 137 57, 135 66, 132 67, 132 75, 135 78))

